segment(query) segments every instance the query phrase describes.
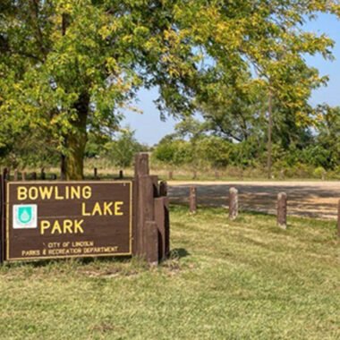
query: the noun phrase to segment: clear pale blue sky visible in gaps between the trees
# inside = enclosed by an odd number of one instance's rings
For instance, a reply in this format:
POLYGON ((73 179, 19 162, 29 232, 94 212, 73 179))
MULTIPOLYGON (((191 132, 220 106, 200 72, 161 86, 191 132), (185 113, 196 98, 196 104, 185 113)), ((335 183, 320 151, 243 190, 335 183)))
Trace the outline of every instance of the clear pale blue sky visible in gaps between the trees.
MULTIPOLYGON (((310 101, 313 105, 327 103, 331 106, 340 106, 340 21, 337 21, 334 16, 322 14, 318 20, 306 23, 305 27, 306 30, 326 33, 336 42, 333 50, 335 61, 325 61, 319 55, 306 58, 307 63, 317 67, 320 74, 329 76, 327 87, 314 91, 310 101)), ((136 137, 140 142, 149 145, 157 143, 166 134, 173 132, 176 123, 171 117, 168 117, 166 122, 160 120, 159 112, 153 104, 153 100, 156 98, 157 89, 140 90, 137 106, 143 114, 127 112, 123 121, 123 125, 129 124, 135 130, 136 137)))

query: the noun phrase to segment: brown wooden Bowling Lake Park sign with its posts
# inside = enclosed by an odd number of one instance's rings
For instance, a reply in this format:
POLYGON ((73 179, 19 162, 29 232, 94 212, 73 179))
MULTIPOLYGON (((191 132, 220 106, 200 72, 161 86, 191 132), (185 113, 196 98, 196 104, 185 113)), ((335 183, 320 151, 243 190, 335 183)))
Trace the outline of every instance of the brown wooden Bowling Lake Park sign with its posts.
POLYGON ((148 154, 127 180, 1 177, 1 262, 134 255, 156 264, 169 253, 166 183, 149 175, 148 154))

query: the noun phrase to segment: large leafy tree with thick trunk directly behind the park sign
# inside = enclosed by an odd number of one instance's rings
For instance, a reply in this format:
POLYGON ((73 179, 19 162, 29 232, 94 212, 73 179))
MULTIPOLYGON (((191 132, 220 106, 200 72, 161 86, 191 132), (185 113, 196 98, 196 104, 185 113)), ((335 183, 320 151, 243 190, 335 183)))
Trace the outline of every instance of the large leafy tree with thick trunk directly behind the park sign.
POLYGON ((183 107, 177 75, 188 81, 195 67, 190 47, 176 38, 174 5, 4 1, 0 114, 18 130, 47 132, 66 178, 80 179, 88 132, 116 129, 141 85, 159 86, 159 105, 183 107))

